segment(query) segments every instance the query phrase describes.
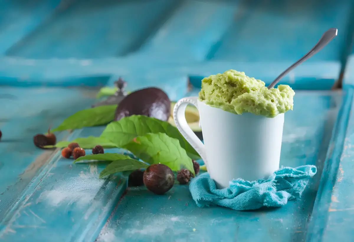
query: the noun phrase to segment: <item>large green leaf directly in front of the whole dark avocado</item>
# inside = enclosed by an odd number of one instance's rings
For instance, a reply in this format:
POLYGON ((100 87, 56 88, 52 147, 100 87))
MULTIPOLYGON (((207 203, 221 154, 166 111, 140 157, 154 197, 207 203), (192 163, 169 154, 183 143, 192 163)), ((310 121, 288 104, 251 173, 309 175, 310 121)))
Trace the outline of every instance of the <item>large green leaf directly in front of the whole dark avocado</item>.
POLYGON ((192 159, 200 159, 199 154, 184 139, 178 129, 168 122, 161 121, 156 118, 150 118, 142 115, 132 115, 122 118, 119 121, 111 122, 103 130, 101 137, 115 143, 118 147, 123 147, 133 138, 143 136, 148 133, 165 133, 168 136, 179 141, 181 147, 187 152, 192 159))

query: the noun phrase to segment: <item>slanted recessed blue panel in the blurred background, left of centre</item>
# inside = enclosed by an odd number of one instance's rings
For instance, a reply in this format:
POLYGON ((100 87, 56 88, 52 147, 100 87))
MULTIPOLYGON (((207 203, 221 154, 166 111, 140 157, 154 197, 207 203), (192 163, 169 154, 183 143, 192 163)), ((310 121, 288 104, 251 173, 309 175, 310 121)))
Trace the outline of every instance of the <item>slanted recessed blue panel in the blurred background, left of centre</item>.
POLYGON ((39 31, 12 46, 6 55, 30 59, 124 56, 165 22, 177 3, 176 0, 73 1, 39 31))

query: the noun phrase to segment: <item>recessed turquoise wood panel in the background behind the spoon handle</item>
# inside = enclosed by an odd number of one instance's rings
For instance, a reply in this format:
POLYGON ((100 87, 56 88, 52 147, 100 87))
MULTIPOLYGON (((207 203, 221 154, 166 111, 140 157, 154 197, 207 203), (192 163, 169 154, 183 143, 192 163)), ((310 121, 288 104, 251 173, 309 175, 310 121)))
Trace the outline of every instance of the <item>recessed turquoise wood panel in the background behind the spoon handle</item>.
POLYGON ((238 7, 242 11, 215 48, 215 60, 295 62, 333 26, 338 36, 309 62, 341 60, 338 46, 346 45, 352 2, 256 0, 238 7))

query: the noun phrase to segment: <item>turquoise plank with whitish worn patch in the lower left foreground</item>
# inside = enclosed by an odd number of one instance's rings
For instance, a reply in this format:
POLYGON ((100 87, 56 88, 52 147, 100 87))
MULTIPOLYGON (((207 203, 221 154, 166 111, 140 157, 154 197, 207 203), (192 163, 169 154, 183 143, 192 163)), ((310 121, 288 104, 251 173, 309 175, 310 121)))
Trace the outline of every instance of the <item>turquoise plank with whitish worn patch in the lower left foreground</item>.
MULTIPOLYGON (((102 130, 103 127, 82 129, 70 139, 99 135, 102 130)), ((0 238, 93 241, 124 192, 122 184, 127 181, 118 176, 98 179, 104 166, 95 162, 73 164, 73 159, 65 159, 56 152, 2 221, 0 238)))

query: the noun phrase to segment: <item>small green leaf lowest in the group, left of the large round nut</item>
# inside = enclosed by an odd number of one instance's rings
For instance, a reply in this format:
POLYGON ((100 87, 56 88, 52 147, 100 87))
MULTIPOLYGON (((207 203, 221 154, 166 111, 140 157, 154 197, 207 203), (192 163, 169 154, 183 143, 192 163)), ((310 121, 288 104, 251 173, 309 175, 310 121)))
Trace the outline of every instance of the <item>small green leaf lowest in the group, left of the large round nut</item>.
POLYGON ((146 168, 146 167, 148 167, 147 164, 138 161, 136 159, 121 159, 107 165, 107 167, 104 168, 103 171, 101 171, 101 173, 99 173, 99 178, 102 178, 103 176, 107 176, 109 174, 121 172, 121 171, 136 170, 139 168, 146 168))

